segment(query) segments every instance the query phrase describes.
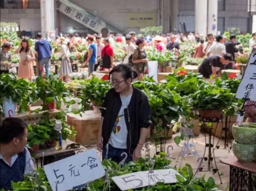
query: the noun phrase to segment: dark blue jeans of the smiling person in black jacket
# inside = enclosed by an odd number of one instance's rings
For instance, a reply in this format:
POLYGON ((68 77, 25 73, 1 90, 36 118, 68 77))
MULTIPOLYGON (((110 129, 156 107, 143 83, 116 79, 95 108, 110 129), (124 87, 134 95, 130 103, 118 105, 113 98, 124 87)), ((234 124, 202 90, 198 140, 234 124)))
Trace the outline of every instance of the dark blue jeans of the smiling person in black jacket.
POLYGON ((106 147, 102 149, 102 160, 107 158, 107 159, 111 159, 116 163, 120 163, 125 158, 125 155, 121 156, 123 152, 125 152, 128 155, 128 157, 125 160, 125 164, 133 160, 133 156, 129 156, 128 149, 114 148, 112 145, 108 144, 108 153, 107 153, 106 147))

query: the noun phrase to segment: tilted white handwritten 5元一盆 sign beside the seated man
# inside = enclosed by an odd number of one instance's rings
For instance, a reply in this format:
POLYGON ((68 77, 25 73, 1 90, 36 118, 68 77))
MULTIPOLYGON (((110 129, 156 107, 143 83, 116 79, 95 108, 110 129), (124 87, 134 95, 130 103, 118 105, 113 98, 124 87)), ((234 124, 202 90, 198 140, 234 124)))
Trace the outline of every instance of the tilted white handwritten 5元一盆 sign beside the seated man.
POLYGON ((105 174, 95 149, 47 164, 44 170, 53 191, 56 191, 57 180, 58 191, 67 191, 101 178, 105 174))

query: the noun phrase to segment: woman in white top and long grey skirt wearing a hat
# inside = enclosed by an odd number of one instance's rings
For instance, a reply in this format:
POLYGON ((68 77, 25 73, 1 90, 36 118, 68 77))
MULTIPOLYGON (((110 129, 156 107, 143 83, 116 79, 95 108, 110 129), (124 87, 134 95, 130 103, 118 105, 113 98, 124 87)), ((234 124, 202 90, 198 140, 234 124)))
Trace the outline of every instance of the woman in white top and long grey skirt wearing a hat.
POLYGON ((70 51, 66 42, 65 37, 60 38, 61 43, 61 64, 60 64, 60 76, 59 80, 63 80, 65 76, 65 81, 68 81, 68 75, 72 73, 72 67, 69 59, 70 51))

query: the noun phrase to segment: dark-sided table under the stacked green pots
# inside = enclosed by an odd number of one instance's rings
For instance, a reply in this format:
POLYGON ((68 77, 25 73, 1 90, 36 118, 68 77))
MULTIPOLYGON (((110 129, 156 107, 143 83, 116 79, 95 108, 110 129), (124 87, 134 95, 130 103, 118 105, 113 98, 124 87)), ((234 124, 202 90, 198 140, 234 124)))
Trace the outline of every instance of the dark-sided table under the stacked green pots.
POLYGON ((220 162, 230 167, 229 191, 256 191, 256 163, 242 163, 236 157, 220 162))

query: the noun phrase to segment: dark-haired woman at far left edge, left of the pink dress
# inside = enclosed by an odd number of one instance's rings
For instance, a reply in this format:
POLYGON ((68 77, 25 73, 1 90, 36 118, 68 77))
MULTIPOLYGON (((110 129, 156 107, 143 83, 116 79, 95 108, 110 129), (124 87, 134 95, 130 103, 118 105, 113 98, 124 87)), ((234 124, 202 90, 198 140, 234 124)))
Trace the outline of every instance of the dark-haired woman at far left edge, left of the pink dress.
POLYGON ((9 69, 11 68, 12 64, 12 57, 11 57, 11 44, 9 42, 3 43, 2 48, 0 49, 0 75, 2 73, 9 73, 9 69))

